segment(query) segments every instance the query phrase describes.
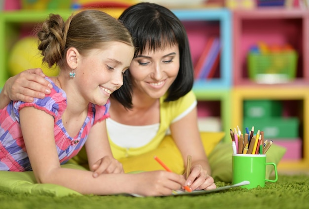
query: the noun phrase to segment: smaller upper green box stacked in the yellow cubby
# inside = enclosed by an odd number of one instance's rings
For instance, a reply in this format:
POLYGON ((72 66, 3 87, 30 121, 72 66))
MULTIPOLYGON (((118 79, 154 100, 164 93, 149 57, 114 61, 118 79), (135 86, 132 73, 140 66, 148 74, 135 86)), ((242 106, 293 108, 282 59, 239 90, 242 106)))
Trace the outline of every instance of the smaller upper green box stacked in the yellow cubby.
POLYGON ((244 118, 272 118, 282 116, 282 103, 278 100, 245 100, 244 118))

